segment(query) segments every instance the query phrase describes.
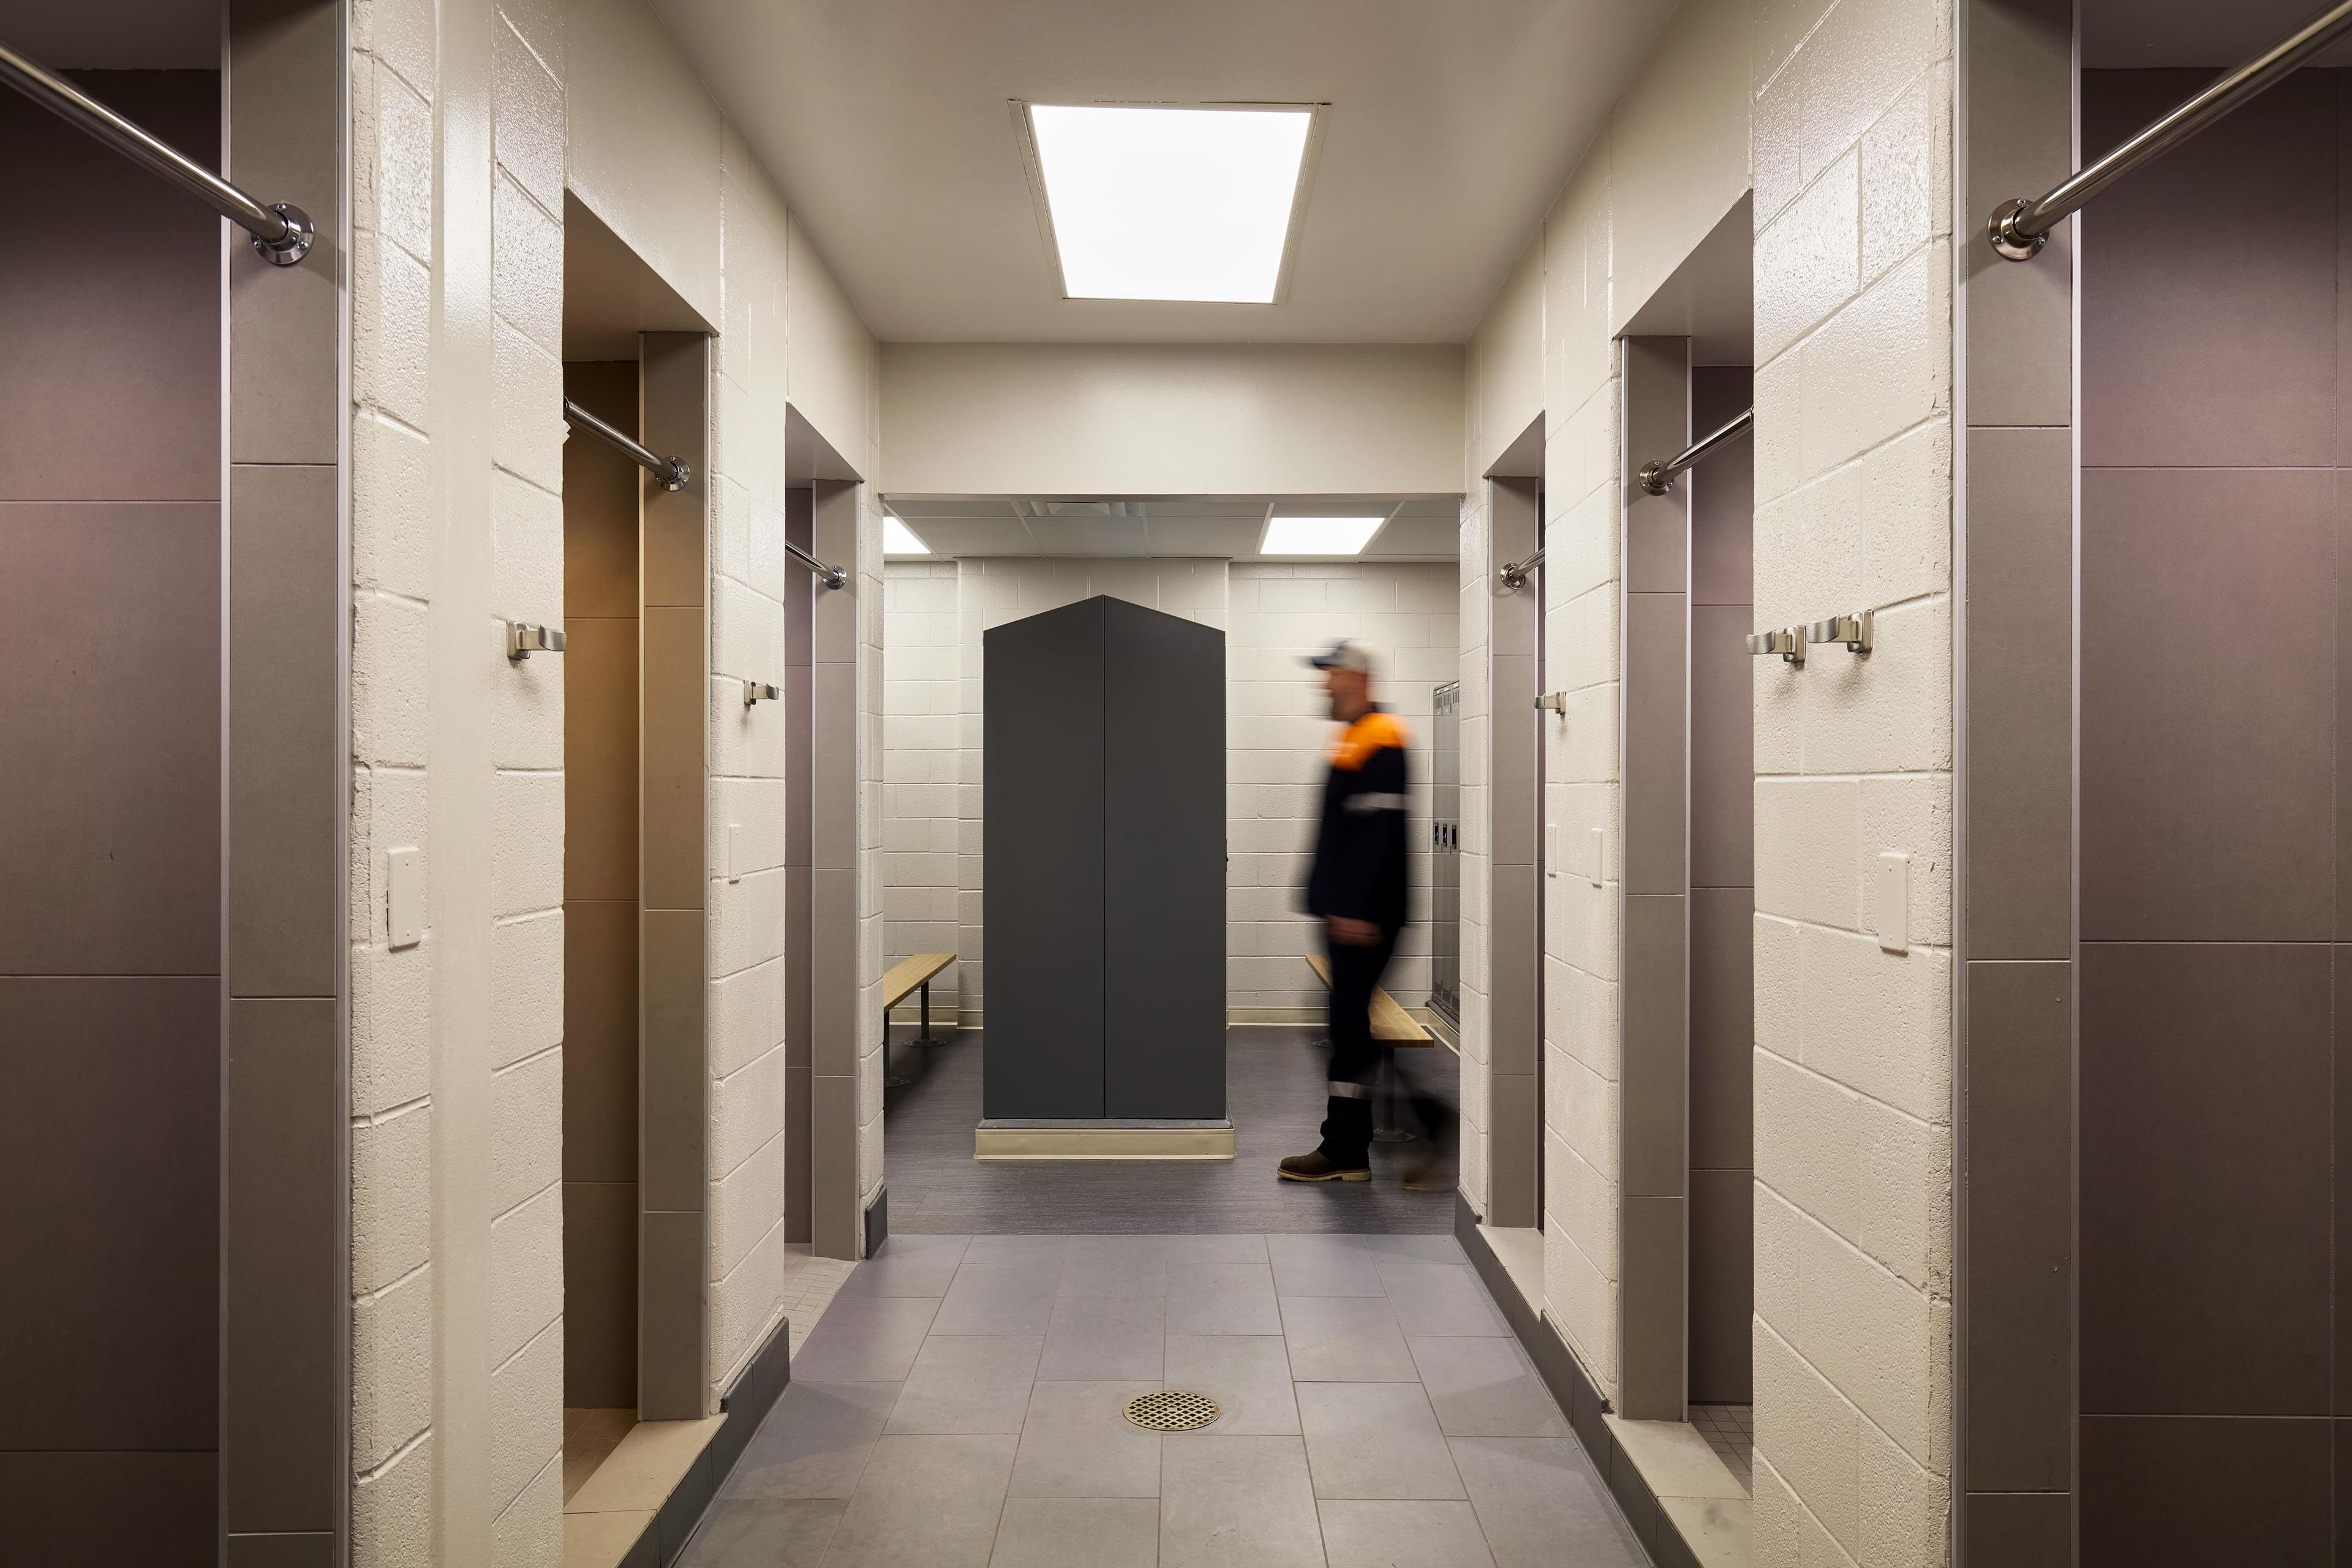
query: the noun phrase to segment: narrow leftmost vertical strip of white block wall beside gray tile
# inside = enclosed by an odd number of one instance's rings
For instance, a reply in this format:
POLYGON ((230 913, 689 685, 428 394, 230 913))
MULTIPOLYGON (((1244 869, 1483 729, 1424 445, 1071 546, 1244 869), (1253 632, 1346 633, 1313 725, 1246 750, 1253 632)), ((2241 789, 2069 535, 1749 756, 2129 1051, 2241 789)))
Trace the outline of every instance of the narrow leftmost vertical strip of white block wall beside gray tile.
POLYGON ((360 1563, 433 1556, 433 961, 393 952, 383 851, 426 835, 426 299, 435 12, 350 21, 350 1528, 360 1563))

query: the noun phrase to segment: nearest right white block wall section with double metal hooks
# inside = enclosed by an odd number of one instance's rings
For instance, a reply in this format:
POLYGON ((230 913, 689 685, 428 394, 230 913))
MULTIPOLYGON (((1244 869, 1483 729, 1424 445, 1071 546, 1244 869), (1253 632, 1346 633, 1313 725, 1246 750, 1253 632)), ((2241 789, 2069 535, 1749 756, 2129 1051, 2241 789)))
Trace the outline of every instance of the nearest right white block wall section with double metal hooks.
POLYGON ((1757 40, 1755 1561, 1938 1563, 1952 1432, 1952 7, 1757 40), (1912 856, 1912 947, 1870 875, 1912 856))

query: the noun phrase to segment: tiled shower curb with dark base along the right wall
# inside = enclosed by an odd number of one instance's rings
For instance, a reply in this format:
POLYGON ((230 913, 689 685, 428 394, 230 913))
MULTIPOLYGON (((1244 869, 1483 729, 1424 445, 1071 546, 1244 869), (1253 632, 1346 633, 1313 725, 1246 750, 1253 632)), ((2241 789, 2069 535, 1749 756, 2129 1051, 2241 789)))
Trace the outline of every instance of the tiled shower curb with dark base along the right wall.
POLYGON ((1691 1422, 1625 1420, 1602 1408, 1576 1352, 1543 1316, 1543 1232, 1479 1225, 1458 1204, 1454 1237, 1550 1385, 1569 1427, 1609 1481, 1661 1568, 1748 1568, 1748 1486, 1691 1422))

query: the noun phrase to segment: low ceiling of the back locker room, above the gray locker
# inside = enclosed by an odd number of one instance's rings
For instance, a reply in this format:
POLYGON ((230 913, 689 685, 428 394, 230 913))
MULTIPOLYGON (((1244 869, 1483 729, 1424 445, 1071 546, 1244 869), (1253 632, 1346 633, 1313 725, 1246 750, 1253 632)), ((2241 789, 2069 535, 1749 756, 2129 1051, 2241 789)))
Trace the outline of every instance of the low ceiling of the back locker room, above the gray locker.
POLYGON ((1279 496, 1150 496, 1141 501, 1030 501, 1011 496, 898 498, 884 505, 931 545, 931 557, 955 555, 1110 555, 1214 559, 1348 559, 1331 555, 1258 555, 1265 517, 1388 517, 1364 555, 1369 562, 1449 562, 1461 538, 1458 496, 1359 496, 1355 501, 1287 501, 1279 496))

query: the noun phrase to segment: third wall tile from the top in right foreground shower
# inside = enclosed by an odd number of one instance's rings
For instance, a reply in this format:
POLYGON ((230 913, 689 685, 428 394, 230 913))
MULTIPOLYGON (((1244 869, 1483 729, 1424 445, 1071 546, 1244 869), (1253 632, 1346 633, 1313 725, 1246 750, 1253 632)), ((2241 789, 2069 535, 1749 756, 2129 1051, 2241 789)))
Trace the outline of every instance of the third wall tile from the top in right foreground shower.
POLYGON ((2317 945, 2084 947, 2084 1413, 2328 1410, 2328 992, 2317 945))

